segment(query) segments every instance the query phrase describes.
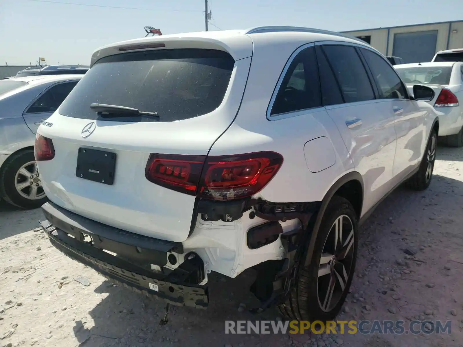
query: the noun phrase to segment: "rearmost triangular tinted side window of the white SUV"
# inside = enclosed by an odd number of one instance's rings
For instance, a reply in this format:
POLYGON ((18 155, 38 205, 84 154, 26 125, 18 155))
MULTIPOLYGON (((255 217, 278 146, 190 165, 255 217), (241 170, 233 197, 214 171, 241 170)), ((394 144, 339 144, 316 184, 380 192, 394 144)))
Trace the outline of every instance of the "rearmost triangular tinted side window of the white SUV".
POLYGON ((320 87, 313 47, 301 51, 289 65, 270 115, 320 107, 320 87))

